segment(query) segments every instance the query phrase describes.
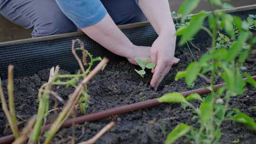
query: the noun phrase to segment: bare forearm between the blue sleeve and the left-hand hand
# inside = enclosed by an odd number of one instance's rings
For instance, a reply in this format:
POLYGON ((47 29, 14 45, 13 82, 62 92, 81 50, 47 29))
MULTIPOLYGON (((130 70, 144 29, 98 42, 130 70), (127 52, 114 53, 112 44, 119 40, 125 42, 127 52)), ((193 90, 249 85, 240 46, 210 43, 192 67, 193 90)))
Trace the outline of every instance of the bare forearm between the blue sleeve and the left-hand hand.
POLYGON ((109 14, 107 14, 99 23, 82 28, 82 31, 114 54, 127 58, 133 56, 132 52, 134 50, 134 45, 116 26, 109 14))

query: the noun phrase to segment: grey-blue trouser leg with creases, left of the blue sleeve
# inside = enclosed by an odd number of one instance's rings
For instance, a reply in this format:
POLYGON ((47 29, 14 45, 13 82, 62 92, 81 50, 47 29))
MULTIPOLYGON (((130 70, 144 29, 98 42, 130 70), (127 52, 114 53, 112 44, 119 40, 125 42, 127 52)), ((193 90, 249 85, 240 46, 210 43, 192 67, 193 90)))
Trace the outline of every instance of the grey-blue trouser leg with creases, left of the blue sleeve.
POLYGON ((0 0, 0 14, 21 27, 33 28, 32 37, 77 31, 55 0, 0 0))

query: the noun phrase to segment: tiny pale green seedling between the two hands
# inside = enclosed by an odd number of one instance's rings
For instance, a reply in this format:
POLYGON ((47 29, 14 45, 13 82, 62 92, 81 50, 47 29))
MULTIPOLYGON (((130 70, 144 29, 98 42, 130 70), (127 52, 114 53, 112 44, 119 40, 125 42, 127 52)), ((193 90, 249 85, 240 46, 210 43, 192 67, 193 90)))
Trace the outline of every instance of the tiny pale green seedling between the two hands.
POLYGON ((149 58, 145 58, 144 62, 140 59, 140 58, 135 58, 136 62, 138 63, 138 65, 141 67, 142 70, 136 70, 135 71, 142 77, 144 78, 144 75, 146 74, 145 69, 153 69, 155 68, 155 63, 150 63, 150 59, 149 58))

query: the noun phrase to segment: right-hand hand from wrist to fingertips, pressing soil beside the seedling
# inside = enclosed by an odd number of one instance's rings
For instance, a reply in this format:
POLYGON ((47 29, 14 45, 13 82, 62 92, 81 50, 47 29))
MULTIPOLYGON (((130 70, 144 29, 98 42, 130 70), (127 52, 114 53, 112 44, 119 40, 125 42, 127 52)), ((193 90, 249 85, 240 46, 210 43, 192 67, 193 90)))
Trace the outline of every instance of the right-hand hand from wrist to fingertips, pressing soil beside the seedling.
POLYGON ((180 59, 174 57, 176 36, 159 35, 150 50, 152 63, 156 63, 152 69, 153 77, 150 85, 157 90, 165 75, 171 70, 173 64, 179 63, 180 59))

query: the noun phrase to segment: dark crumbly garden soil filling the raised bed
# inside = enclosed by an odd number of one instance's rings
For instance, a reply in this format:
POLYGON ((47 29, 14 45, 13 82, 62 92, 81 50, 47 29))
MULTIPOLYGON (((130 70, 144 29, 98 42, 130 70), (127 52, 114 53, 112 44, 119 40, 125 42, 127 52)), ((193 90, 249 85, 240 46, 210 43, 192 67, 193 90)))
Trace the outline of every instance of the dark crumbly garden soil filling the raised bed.
MULTIPOLYGON (((195 48, 192 48, 192 51, 196 58, 205 53, 205 51, 199 52, 195 48)), ((138 67, 127 61, 110 62, 105 70, 96 75, 88 84, 91 106, 87 109, 87 113, 158 98, 167 92, 183 92, 208 85, 202 79, 198 79, 195 81, 193 87, 187 88, 184 80, 174 81, 175 74, 178 71, 184 70, 187 64, 193 60, 188 49, 183 47, 176 49, 175 56, 181 59, 180 63, 172 67, 172 70, 167 74, 157 91, 154 91, 149 86, 152 77, 151 72, 147 72, 145 78, 142 79, 134 71, 138 67)), ((256 63, 253 59, 251 60, 245 63, 245 67, 247 67, 245 71, 251 75, 256 75, 256 63)), ((61 72, 69 73, 65 71, 61 72)), ((24 126, 25 121, 29 117, 37 113, 37 91, 47 81, 48 75, 49 70, 43 70, 33 76, 20 77, 14 80, 15 107, 16 113, 18 114, 18 126, 20 128, 24 126)), ((221 83, 222 81, 217 79, 215 82, 221 83)), ((7 81, 5 80, 3 81, 3 87, 5 96, 7 97, 6 86, 7 81)), ((54 86, 52 90, 66 100, 68 95, 73 91, 73 88, 54 86)), ((199 106, 197 102, 192 103, 195 106, 199 106)), ((54 99, 52 98, 51 108, 53 108, 53 105, 54 99)), ((256 112, 250 109, 256 106, 256 90, 248 86, 247 91, 243 95, 232 98, 230 106, 240 109, 256 120, 256 112)), ((57 108, 60 107, 62 107, 62 104, 59 103, 57 108)), ((51 123, 55 119, 58 111, 54 110, 50 113, 47 123, 51 123)), ((78 112, 77 116, 80 115, 78 112)), ((166 135, 179 123, 197 126, 196 120, 192 120, 192 117, 192 112, 190 110, 183 110, 180 104, 163 104, 99 121, 85 122, 83 125, 76 125, 76 142, 90 139, 110 121, 117 120, 116 125, 103 135, 97 141, 97 144, 163 144, 166 135)), ((9 127, 6 128, 7 120, 2 108, 0 108, 0 119, 0 136, 11 134, 9 127)), ((234 140, 239 140, 239 144, 254 144, 256 141, 255 135, 256 132, 246 126, 232 121, 225 121, 223 123, 220 144, 232 144, 234 140)), ((61 128, 52 142, 53 144, 70 144, 71 137, 72 127, 61 128)), ((43 139, 43 136, 41 139, 43 139)), ((176 142, 176 144, 184 143, 187 143, 186 138, 181 138, 176 142)))

